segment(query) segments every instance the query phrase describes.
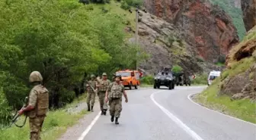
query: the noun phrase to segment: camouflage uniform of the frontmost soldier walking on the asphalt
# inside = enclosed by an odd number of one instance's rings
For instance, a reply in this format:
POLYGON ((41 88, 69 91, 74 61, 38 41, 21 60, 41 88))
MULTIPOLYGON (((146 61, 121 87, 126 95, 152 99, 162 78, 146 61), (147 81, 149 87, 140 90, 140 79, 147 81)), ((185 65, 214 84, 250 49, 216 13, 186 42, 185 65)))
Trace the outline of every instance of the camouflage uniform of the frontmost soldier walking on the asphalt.
POLYGON ((107 91, 110 92, 109 95, 109 105, 110 105, 110 116, 120 117, 122 111, 122 96, 124 91, 124 86, 118 84, 117 82, 111 82, 107 91))

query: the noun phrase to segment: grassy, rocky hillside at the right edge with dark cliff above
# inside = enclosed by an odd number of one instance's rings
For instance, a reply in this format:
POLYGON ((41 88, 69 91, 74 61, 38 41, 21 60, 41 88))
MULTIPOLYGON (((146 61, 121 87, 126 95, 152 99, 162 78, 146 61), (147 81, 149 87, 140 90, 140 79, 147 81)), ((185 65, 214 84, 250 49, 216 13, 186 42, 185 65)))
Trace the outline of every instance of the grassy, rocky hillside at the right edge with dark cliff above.
MULTIPOLYGON (((242 1, 243 2, 247 1, 242 1)), ((248 7, 256 5, 251 2, 248 7)), ((256 23, 254 11, 242 9, 249 17, 244 17, 245 24, 254 27, 248 31, 242 42, 235 45, 227 56, 226 66, 213 85, 197 96, 197 101, 213 109, 221 109, 235 117, 256 123, 256 23), (253 15, 253 16, 252 16, 253 15)))

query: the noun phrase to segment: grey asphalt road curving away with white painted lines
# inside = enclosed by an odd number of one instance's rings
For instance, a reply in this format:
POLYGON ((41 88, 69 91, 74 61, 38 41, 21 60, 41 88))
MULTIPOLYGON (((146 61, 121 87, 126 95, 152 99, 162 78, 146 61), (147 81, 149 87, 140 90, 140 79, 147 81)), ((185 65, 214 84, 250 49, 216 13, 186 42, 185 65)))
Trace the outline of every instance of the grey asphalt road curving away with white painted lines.
POLYGON ((205 87, 127 90, 120 124, 94 111, 61 140, 255 140, 256 125, 207 110, 188 95, 205 87), (92 123, 91 123, 92 122, 92 123), (91 125, 89 125, 91 124, 91 125), (67 136, 69 135, 69 136, 67 136))

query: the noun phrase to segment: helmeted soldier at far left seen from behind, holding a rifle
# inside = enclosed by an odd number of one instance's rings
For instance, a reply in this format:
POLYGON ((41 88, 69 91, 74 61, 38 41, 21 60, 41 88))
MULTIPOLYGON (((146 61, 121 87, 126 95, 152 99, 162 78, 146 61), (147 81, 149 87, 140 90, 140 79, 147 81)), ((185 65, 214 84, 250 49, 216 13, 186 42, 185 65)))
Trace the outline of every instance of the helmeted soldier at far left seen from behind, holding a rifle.
POLYGON ((30 90, 27 107, 19 110, 19 115, 24 114, 24 112, 27 113, 30 124, 30 140, 39 140, 43 121, 49 107, 49 92, 41 85, 43 77, 38 71, 30 73, 29 82, 34 87, 30 90))

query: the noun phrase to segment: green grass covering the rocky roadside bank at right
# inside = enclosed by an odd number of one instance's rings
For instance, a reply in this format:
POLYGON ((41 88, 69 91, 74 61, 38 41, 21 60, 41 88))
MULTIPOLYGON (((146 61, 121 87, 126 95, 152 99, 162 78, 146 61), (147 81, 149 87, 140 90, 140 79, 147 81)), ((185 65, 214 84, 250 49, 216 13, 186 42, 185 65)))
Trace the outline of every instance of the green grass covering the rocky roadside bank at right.
MULTIPOLYGON (((211 86, 196 96, 196 101, 206 107, 210 107, 214 110, 220 110, 233 117, 238 117, 251 123, 256 123, 255 102, 250 101, 250 99, 231 100, 229 95, 236 94, 236 92, 223 94, 221 90, 226 86, 225 79, 233 78, 240 73, 245 73, 246 70, 249 70, 251 66, 253 66, 256 60, 256 51, 252 53, 251 57, 242 58, 240 61, 236 61, 235 54, 237 54, 239 49, 242 47, 251 45, 251 43, 254 44, 256 38, 251 36, 254 36, 255 33, 256 30, 251 30, 242 42, 232 48, 229 54, 229 69, 224 70, 221 76, 215 79, 211 86)), ((254 71, 250 73, 249 77, 255 77, 254 71)), ((229 85, 230 84, 231 83, 229 83, 229 85)))

